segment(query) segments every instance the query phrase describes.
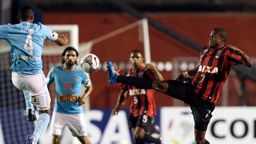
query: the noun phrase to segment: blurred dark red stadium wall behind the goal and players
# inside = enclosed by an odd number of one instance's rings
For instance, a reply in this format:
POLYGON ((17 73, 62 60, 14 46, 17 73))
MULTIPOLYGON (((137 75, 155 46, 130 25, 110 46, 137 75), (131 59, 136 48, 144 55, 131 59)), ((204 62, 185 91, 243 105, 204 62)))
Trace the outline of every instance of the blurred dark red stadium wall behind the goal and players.
MULTIPOLYGON (((211 30, 223 27, 228 31, 226 45, 233 45, 242 49, 250 57, 256 56, 255 25, 256 14, 241 13, 148 13, 149 17, 158 20, 167 27, 196 41, 202 46, 208 46, 211 30)), ((131 24, 138 19, 119 13, 43 13, 43 24, 78 24, 79 43, 98 38, 109 32, 131 24)), ((200 53, 187 45, 169 37, 166 34, 149 27, 151 60, 155 62, 172 61, 178 56, 199 56, 200 53)), ((132 29, 108 40, 99 42, 92 47, 101 63, 111 60, 113 62, 128 62, 132 49, 143 50, 143 43, 138 41, 138 29, 132 29)), ((199 57, 198 57, 199 58, 199 57)), ((121 71, 124 73, 124 71, 121 71)), ((161 72, 164 79, 172 79, 172 73, 161 72)), ((114 107, 120 91, 120 85, 109 85, 105 71, 91 74, 93 92, 90 97, 91 107, 114 107)), ((256 84, 246 80, 249 105, 256 105, 253 100, 256 93, 256 84)), ((234 83, 229 79, 229 106, 233 106, 238 99, 234 83)), ((173 99, 162 93, 155 94, 158 107, 172 106, 173 99)), ((124 107, 128 107, 129 102, 124 107)), ((220 106, 220 100, 216 103, 220 106)))

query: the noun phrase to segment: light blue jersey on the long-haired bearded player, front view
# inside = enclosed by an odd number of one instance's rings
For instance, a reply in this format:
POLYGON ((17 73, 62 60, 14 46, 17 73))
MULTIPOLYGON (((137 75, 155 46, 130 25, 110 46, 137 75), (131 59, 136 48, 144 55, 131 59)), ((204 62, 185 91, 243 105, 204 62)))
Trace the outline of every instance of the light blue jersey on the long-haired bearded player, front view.
POLYGON ((64 64, 52 68, 47 76, 47 86, 55 82, 56 98, 53 111, 65 114, 83 113, 83 107, 78 106, 82 84, 85 87, 92 85, 88 73, 78 66, 71 72, 63 69, 64 64))

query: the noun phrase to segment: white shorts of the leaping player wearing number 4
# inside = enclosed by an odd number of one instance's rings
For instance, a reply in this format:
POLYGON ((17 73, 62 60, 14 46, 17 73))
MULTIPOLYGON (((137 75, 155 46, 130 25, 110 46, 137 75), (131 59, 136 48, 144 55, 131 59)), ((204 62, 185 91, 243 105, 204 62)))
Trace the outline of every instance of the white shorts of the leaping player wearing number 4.
POLYGON ((36 75, 12 72, 12 82, 18 89, 29 91, 30 101, 38 110, 50 108, 51 98, 43 72, 36 75))

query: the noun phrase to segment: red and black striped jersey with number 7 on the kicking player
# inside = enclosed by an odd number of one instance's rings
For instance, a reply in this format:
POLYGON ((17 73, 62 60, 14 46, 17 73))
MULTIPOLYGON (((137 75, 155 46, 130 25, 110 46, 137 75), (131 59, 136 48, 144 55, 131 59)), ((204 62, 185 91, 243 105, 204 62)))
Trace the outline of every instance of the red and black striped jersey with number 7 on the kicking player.
POLYGON ((201 49, 200 66, 192 87, 203 99, 216 103, 230 69, 237 64, 241 64, 241 56, 229 52, 229 48, 201 49))

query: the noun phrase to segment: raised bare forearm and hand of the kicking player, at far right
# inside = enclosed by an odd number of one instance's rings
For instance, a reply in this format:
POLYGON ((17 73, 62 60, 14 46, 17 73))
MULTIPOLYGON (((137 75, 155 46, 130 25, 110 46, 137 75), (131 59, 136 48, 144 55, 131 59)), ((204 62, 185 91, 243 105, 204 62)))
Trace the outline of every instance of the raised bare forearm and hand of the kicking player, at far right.
POLYGON ((245 65, 249 68, 251 68, 253 66, 252 60, 243 51, 241 51, 237 47, 233 47, 232 45, 228 45, 227 47, 231 49, 230 52, 240 55, 242 57, 242 59, 241 59, 242 65, 245 65))

